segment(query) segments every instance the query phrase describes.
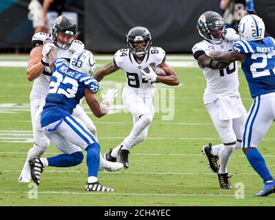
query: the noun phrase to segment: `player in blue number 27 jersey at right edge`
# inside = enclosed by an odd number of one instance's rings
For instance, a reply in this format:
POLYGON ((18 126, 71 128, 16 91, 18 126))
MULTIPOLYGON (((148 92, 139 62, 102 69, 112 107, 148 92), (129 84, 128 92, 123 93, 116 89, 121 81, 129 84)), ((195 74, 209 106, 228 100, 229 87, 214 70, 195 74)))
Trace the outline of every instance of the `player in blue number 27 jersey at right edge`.
POLYGON ((241 41, 234 43, 231 52, 210 50, 207 55, 216 61, 227 63, 241 61, 254 99, 245 122, 242 147, 252 168, 265 182, 263 190, 254 196, 267 196, 275 192, 275 180, 257 146, 275 120, 275 40, 265 37, 265 23, 252 14, 241 19, 238 34, 241 41))

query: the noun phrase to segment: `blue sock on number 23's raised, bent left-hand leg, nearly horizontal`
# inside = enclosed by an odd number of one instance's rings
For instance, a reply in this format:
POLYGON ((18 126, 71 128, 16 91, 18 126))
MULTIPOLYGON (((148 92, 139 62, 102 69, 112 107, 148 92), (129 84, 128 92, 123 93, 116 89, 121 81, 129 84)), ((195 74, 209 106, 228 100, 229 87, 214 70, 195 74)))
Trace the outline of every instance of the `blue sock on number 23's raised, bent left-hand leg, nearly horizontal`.
POLYGON ((69 167, 81 164, 83 157, 82 151, 77 151, 71 154, 59 154, 54 157, 48 157, 47 159, 49 166, 69 167))

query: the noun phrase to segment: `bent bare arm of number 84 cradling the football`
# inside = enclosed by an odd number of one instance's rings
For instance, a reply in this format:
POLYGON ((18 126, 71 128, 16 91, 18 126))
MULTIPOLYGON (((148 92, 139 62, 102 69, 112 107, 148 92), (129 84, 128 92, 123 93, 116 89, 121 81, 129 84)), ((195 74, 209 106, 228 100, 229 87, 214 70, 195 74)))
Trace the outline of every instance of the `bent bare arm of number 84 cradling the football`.
POLYGON ((163 69, 167 76, 157 76, 156 77, 156 83, 164 83, 166 85, 179 85, 179 78, 176 76, 176 73, 174 72, 174 69, 167 65, 167 63, 164 61, 159 65, 161 69, 163 69))

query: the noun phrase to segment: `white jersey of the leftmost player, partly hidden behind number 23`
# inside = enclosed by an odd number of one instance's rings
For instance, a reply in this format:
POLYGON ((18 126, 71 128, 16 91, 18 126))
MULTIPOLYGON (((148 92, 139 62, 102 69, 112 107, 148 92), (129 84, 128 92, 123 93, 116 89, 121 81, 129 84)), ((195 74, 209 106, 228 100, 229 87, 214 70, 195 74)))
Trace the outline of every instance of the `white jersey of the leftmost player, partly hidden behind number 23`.
MULTIPOLYGON (((51 37, 50 34, 36 33, 32 36, 32 45, 36 47, 37 45, 43 45, 46 38, 51 37)), ((67 50, 62 50, 57 47, 57 58, 65 58, 70 61, 70 58, 74 52, 78 50, 83 50, 84 44, 81 41, 74 40, 67 50)), ((49 67, 43 69, 42 74, 34 80, 32 85, 32 91, 30 93, 31 97, 43 96, 46 97, 48 94, 48 87, 50 84, 51 71, 49 67)))

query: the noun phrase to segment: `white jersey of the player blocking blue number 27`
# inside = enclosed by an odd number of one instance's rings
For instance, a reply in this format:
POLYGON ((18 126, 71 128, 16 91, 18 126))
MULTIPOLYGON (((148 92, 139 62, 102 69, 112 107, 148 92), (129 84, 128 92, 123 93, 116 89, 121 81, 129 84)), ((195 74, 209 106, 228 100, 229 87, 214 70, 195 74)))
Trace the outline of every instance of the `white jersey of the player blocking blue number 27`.
MULTIPOLYGON (((192 47, 194 58, 198 58, 209 47, 214 51, 227 52, 232 50, 234 42, 223 41, 221 44, 214 44, 210 41, 201 41, 192 47)), ((201 65, 198 63, 201 67, 201 65)), ((220 96, 239 96, 238 92, 238 65, 231 63, 229 67, 219 70, 201 67, 206 79, 207 87, 203 95, 204 104, 213 102, 220 96)))

